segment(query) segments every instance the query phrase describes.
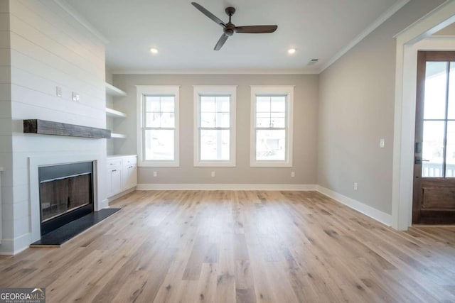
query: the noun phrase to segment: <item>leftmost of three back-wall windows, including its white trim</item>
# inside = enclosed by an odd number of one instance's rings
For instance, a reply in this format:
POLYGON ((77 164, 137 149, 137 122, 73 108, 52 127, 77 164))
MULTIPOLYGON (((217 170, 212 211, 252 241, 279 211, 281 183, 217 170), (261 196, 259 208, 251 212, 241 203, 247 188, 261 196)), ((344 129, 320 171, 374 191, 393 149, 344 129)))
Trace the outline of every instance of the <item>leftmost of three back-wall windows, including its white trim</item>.
POLYGON ((137 85, 139 166, 178 166, 178 92, 137 85))

